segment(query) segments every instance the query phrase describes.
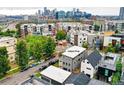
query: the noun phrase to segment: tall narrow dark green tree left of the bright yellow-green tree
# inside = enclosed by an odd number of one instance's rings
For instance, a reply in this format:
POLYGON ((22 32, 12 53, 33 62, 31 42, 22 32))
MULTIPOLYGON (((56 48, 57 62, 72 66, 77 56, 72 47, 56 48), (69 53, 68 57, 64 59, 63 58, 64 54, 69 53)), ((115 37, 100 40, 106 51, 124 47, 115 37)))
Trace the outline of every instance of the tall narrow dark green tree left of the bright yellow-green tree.
POLYGON ((17 64, 20 66, 20 69, 23 70, 28 66, 28 50, 24 40, 18 41, 16 47, 16 56, 17 64))

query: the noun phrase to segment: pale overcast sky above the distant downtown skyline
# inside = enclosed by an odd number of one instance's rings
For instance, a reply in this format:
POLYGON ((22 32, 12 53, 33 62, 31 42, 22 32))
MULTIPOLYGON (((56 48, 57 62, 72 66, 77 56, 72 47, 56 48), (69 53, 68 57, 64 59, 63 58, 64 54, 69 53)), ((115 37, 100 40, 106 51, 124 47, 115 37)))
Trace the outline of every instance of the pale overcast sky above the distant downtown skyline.
MULTIPOLYGON (((119 15, 120 7, 48 7, 52 10, 69 11, 73 8, 79 8, 82 12, 88 12, 93 15, 119 15)), ((31 15, 35 14, 38 10, 43 11, 43 7, 0 7, 0 14, 2 15, 31 15)))

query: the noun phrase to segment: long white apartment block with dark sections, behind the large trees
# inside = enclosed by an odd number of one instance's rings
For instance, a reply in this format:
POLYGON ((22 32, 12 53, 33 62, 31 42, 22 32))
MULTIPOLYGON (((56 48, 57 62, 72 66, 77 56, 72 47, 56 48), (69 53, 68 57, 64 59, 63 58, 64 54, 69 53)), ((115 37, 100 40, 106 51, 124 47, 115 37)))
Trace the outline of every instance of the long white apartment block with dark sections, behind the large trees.
POLYGON ((52 35, 54 24, 23 24, 21 25, 21 36, 26 35, 52 35))

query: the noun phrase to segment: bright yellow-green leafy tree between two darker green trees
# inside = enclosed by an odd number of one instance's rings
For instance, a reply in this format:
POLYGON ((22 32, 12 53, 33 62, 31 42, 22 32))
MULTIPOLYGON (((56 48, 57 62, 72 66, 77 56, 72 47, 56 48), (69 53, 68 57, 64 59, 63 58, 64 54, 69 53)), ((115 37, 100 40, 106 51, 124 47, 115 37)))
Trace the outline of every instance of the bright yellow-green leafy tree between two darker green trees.
POLYGON ((29 56, 36 61, 40 61, 43 57, 42 46, 47 41, 46 36, 26 36, 29 56))

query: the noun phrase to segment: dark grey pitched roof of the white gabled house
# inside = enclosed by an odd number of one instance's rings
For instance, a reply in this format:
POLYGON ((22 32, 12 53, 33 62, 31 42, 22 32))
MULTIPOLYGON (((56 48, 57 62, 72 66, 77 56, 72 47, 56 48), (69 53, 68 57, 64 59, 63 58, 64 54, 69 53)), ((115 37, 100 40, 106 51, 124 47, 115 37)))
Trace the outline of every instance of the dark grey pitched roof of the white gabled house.
POLYGON ((86 59, 95 68, 95 66, 98 64, 101 58, 102 58, 102 55, 97 50, 95 50, 86 59))

